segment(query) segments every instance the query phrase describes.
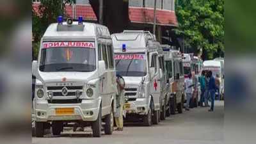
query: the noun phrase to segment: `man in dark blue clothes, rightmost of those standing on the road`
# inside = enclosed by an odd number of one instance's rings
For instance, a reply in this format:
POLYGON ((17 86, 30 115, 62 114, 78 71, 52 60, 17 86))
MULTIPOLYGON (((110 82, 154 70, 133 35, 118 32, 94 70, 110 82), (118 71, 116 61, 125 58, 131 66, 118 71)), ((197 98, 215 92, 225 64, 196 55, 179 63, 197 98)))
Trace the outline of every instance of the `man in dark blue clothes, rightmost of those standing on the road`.
POLYGON ((209 111, 214 111, 214 100, 215 100, 215 92, 216 92, 216 84, 215 84, 215 79, 212 76, 212 71, 209 71, 209 94, 210 94, 210 99, 211 99, 211 109, 209 111))

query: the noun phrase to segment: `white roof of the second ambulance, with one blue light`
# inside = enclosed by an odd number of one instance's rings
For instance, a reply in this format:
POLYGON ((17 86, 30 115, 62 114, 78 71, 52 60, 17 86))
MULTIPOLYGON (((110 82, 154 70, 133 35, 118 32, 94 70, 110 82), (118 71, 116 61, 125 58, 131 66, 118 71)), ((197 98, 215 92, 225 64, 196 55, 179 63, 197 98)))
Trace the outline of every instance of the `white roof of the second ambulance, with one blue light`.
POLYGON ((160 43, 148 31, 124 31, 123 33, 115 33, 111 37, 115 51, 122 51, 123 45, 125 45, 127 52, 145 51, 145 49, 153 49, 153 47, 160 49, 160 43))

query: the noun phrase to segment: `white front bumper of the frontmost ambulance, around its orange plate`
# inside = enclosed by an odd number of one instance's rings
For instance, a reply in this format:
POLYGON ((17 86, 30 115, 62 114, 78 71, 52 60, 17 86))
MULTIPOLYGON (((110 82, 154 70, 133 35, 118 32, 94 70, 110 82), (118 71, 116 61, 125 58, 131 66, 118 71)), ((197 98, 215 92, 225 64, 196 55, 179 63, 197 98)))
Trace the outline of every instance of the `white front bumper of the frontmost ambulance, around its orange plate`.
POLYGON ((49 104, 47 100, 35 103, 36 122, 51 122, 55 120, 93 122, 99 115, 100 99, 82 100, 79 104, 49 104), (56 108, 73 108, 74 113, 69 115, 56 115, 56 108), (40 113, 40 115, 38 115, 40 113))

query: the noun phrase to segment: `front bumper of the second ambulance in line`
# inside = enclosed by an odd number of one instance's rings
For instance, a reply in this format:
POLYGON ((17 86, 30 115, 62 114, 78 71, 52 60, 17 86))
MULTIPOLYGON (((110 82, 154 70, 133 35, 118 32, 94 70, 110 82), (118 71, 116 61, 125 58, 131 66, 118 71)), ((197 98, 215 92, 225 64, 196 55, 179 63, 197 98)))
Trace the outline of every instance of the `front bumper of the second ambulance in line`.
POLYGON ((135 101, 128 101, 124 104, 127 114, 147 115, 148 108, 149 102, 146 98, 137 98, 135 101))

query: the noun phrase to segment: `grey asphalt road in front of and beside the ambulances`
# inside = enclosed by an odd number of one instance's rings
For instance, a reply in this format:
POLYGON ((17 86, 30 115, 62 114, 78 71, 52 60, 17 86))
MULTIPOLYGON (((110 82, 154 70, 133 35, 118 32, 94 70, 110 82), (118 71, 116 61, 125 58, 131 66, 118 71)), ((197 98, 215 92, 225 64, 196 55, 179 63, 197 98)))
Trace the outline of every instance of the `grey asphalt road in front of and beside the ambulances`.
POLYGON ((215 111, 194 108, 182 114, 171 115, 158 125, 144 127, 140 124, 124 127, 112 135, 92 138, 92 131, 64 132, 59 137, 48 134, 45 138, 33 138, 35 144, 212 144, 224 143, 224 102, 216 101, 215 111))

